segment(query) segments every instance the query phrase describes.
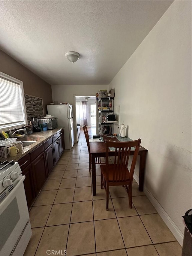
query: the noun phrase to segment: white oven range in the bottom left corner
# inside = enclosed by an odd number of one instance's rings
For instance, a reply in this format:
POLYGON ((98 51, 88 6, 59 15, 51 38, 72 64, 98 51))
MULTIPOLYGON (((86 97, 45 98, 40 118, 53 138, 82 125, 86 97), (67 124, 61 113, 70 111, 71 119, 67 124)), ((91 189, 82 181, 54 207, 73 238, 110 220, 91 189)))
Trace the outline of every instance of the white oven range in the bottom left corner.
POLYGON ((21 256, 32 235, 19 164, 0 164, 0 255, 21 256))

